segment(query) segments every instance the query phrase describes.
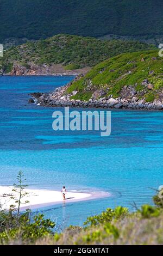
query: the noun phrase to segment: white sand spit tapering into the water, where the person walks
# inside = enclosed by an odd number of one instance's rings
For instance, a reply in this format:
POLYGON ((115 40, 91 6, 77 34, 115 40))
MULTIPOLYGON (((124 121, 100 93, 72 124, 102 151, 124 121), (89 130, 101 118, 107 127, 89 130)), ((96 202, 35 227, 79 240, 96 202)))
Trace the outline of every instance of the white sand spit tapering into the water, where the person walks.
MULTIPOLYGON (((18 193, 12 191, 13 188, 14 187, 0 186, 0 204, 2 209, 9 209, 11 204, 15 204, 15 201, 10 197, 16 196, 16 198, 18 198, 18 193)), ((24 203, 28 200, 29 203, 21 204, 22 210, 27 208, 36 209, 62 202, 78 202, 81 200, 109 197, 110 195, 105 192, 82 193, 67 191, 66 200, 63 200, 60 191, 24 189, 23 193, 24 192, 28 192, 28 194, 22 198, 21 202, 24 203)))

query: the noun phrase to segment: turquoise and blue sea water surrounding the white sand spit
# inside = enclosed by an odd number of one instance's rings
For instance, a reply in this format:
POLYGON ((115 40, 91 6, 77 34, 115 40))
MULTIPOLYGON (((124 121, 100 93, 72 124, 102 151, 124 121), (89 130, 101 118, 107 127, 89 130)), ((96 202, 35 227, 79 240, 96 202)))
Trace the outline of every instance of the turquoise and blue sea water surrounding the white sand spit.
POLYGON ((163 113, 113 110, 109 137, 98 131, 53 131, 56 108, 28 104, 28 94, 48 92, 72 78, 0 77, 1 185, 12 185, 23 170, 31 188, 60 190, 65 185, 111 193, 109 198, 40 209, 58 223, 65 220, 64 225, 82 224, 107 207, 133 210, 133 202, 152 203, 151 188, 163 185, 163 113))

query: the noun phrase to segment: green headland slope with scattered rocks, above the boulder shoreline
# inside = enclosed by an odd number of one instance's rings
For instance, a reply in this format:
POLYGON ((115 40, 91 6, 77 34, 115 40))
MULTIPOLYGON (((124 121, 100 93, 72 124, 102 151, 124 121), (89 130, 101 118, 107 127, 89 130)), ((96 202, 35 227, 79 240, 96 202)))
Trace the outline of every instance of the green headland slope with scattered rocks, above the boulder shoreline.
POLYGON ((162 89, 163 58, 159 57, 158 51, 143 51, 123 53, 97 64, 73 82, 67 93, 76 91, 78 93, 71 99, 81 100, 111 96, 162 102, 162 89))

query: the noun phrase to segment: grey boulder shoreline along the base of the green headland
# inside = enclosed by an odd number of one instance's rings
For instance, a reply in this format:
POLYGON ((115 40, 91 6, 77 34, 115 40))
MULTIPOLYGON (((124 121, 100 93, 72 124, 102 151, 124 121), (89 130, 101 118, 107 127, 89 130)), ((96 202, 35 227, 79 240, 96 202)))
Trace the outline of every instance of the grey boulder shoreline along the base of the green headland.
MULTIPOLYGON (((75 78, 78 79, 78 78, 75 78)), ((71 82, 72 83, 72 82, 71 82)), ((139 109, 148 111, 162 111, 163 104, 160 101, 145 102, 139 100, 133 95, 132 99, 125 97, 118 97, 114 99, 112 96, 100 97, 99 99, 90 99, 89 101, 74 100, 72 96, 78 92, 74 91, 72 94, 67 94, 66 90, 71 85, 68 83, 66 86, 59 87, 53 92, 49 93, 32 93, 33 98, 29 99, 29 103, 38 103, 46 107, 81 107, 81 108, 114 108, 114 109, 139 109)), ((129 89, 129 88, 127 88, 129 89)))

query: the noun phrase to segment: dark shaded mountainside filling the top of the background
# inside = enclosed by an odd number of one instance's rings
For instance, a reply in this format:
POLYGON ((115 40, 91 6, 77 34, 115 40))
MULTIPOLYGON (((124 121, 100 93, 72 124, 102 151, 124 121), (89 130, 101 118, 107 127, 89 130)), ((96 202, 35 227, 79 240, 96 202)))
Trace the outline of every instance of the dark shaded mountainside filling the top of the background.
POLYGON ((1 0, 0 41, 84 36, 152 35, 163 31, 162 0, 1 0))

